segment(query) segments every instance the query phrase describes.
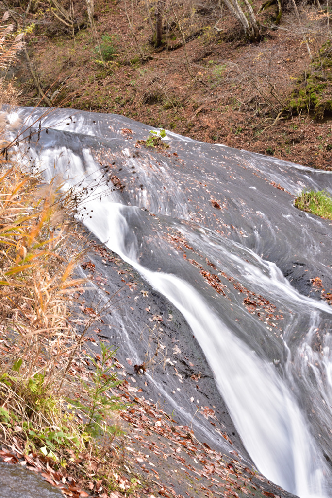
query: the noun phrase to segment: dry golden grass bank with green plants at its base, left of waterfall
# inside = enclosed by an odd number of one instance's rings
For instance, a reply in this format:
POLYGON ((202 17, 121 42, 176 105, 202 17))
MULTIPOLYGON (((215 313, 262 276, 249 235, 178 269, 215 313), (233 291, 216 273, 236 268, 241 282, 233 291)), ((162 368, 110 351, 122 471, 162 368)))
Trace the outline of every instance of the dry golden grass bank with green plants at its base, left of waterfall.
POLYGON ((10 151, 0 161, 0 441, 29 462, 32 452, 37 466, 70 469, 81 487, 93 470, 105 490, 117 489, 120 431, 111 413, 124 404, 112 391, 114 350, 101 344, 88 371, 81 346, 99 314, 84 318, 81 333, 71 325, 73 294, 85 284, 74 277, 84 254, 76 208, 56 179, 24 173, 10 151))

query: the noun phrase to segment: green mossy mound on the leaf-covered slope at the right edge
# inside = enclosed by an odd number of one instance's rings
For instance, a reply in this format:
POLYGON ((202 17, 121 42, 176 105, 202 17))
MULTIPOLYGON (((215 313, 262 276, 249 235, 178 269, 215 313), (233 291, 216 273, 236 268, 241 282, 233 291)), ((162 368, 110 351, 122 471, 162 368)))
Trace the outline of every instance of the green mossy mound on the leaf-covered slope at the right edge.
POLYGON ((332 116, 332 46, 325 43, 319 56, 296 81, 288 106, 293 114, 312 113, 322 120, 332 116))

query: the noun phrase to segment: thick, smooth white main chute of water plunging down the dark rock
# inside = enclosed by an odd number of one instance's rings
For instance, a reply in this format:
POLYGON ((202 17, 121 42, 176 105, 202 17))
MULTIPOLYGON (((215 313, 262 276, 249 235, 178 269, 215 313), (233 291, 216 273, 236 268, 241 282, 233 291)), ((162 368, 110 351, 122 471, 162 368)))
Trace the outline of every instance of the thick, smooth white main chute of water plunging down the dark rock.
MULTIPOLYGON (((87 204, 90 204, 88 200, 87 204)), ((135 249, 125 249, 123 241, 129 229, 121 215, 121 205, 100 206, 92 202, 92 206, 101 222, 86 220, 87 228, 139 271, 186 318, 258 470, 301 498, 327 498, 326 465, 297 404, 273 367, 234 337, 188 283, 174 275, 149 271, 139 264, 135 249)), ((280 285, 279 280, 276 282, 280 285)), ((270 284, 273 285, 273 281, 270 284)), ((288 282, 284 285, 288 287, 288 282)), ((301 299, 300 295, 296 297, 301 299)))

